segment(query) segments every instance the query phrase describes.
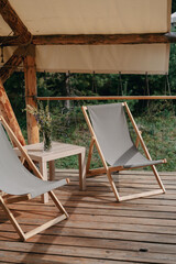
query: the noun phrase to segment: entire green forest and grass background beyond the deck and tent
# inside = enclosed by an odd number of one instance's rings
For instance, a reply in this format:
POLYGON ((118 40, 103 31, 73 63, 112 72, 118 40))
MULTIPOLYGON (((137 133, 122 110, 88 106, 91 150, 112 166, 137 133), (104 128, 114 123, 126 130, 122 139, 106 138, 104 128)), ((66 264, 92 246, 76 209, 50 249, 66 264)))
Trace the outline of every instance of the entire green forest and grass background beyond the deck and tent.
MULTIPOLYGON (((173 0, 172 13, 176 12, 173 0)), ((176 29, 172 29, 176 31, 176 29)), ((4 84, 19 124, 26 139, 24 74, 14 73, 4 84)), ((176 44, 170 44, 168 75, 120 74, 61 74, 37 73, 37 96, 157 96, 176 95, 176 44)), ((82 105, 112 101, 51 101, 53 140, 85 145, 88 150, 90 135, 80 107, 82 105)), ((117 101, 116 101, 117 102, 117 101)), ((46 102, 48 103, 48 102, 46 102)), ((176 170, 176 101, 130 100, 129 106, 142 131, 153 160, 167 158, 160 170, 176 170)), ((132 128, 132 136, 133 131, 132 128)), ((57 161, 57 167, 76 168, 76 157, 57 161)), ((92 167, 101 166, 97 152, 92 167)), ((147 169, 147 168, 146 168, 147 169)))

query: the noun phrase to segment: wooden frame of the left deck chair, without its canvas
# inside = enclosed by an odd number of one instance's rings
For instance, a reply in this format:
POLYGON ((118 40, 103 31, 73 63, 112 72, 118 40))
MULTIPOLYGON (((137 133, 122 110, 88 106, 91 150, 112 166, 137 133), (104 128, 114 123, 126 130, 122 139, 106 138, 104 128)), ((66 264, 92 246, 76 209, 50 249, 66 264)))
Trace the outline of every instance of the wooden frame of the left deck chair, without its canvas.
MULTIPOLYGON (((10 129, 10 127, 8 125, 6 120, 3 119, 3 117, 0 117, 0 122, 4 127, 10 140, 20 150, 20 152, 22 154, 21 162, 23 163, 24 160, 25 160, 28 162, 30 168, 33 170, 34 175, 37 176, 38 178, 43 179, 42 174, 38 172, 38 169, 34 165, 34 163, 32 162, 31 157, 28 155, 28 152, 21 145, 21 143, 19 142, 19 140, 16 139, 16 136, 14 135, 14 133, 12 132, 12 130, 10 129)), ((65 184, 68 184, 68 183, 69 183, 69 179, 68 178, 65 179, 65 184)), ((26 241, 28 239, 30 239, 34 234, 37 234, 38 232, 41 232, 41 231, 61 222, 64 219, 69 217, 68 213, 66 212, 65 208, 62 206, 61 201, 55 196, 55 194, 51 190, 51 191, 48 191, 48 195, 50 195, 51 199, 53 200, 54 205, 57 207, 57 209, 62 212, 62 215, 59 217, 56 217, 56 218, 47 221, 46 223, 44 223, 44 224, 33 229, 33 230, 24 233, 23 230, 21 229, 20 224, 18 223, 16 219, 14 218, 14 216, 12 215, 12 212, 10 211, 10 209, 8 208, 7 205, 11 204, 11 202, 22 201, 22 200, 23 201, 30 200, 31 195, 29 194, 29 195, 23 195, 23 196, 11 196, 11 195, 6 195, 3 193, 0 193, 0 206, 2 207, 3 211, 6 212, 7 217, 11 221, 12 226, 14 227, 16 233, 20 235, 22 241, 26 241)))

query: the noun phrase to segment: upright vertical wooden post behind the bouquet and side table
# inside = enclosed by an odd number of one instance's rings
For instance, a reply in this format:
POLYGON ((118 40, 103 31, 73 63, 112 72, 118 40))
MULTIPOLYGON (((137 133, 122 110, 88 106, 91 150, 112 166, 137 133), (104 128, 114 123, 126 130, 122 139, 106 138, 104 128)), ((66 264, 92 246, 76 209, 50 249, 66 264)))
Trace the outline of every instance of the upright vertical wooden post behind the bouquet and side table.
MULTIPOLYGON (((24 77, 25 77, 25 105, 36 107, 36 67, 35 67, 35 47, 29 46, 29 53, 24 57, 24 77)), ((40 142, 38 128, 35 118, 26 112, 28 143, 40 142)))

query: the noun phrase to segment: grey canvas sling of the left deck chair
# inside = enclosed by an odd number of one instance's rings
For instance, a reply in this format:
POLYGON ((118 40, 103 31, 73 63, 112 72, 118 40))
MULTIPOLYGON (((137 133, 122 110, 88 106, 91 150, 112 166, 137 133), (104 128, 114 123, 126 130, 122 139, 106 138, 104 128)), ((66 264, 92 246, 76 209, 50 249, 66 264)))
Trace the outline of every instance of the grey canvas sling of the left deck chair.
POLYGON ((45 194, 62 185, 59 182, 45 182, 30 173, 20 162, 0 124, 0 189, 9 195, 31 195, 31 198, 45 194))

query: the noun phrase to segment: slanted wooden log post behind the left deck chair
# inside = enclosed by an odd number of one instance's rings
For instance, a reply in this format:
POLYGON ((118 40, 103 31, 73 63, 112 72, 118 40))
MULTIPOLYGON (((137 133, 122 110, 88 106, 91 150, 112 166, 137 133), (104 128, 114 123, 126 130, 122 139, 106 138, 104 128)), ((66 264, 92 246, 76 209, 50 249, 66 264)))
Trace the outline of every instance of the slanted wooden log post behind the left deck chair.
POLYGON ((18 120, 15 118, 15 114, 13 112, 13 109, 11 107, 11 103, 9 101, 9 98, 7 96, 7 92, 1 80, 0 80, 0 114, 6 119, 7 123, 12 129, 20 143, 22 145, 25 145, 25 140, 22 135, 18 120))

